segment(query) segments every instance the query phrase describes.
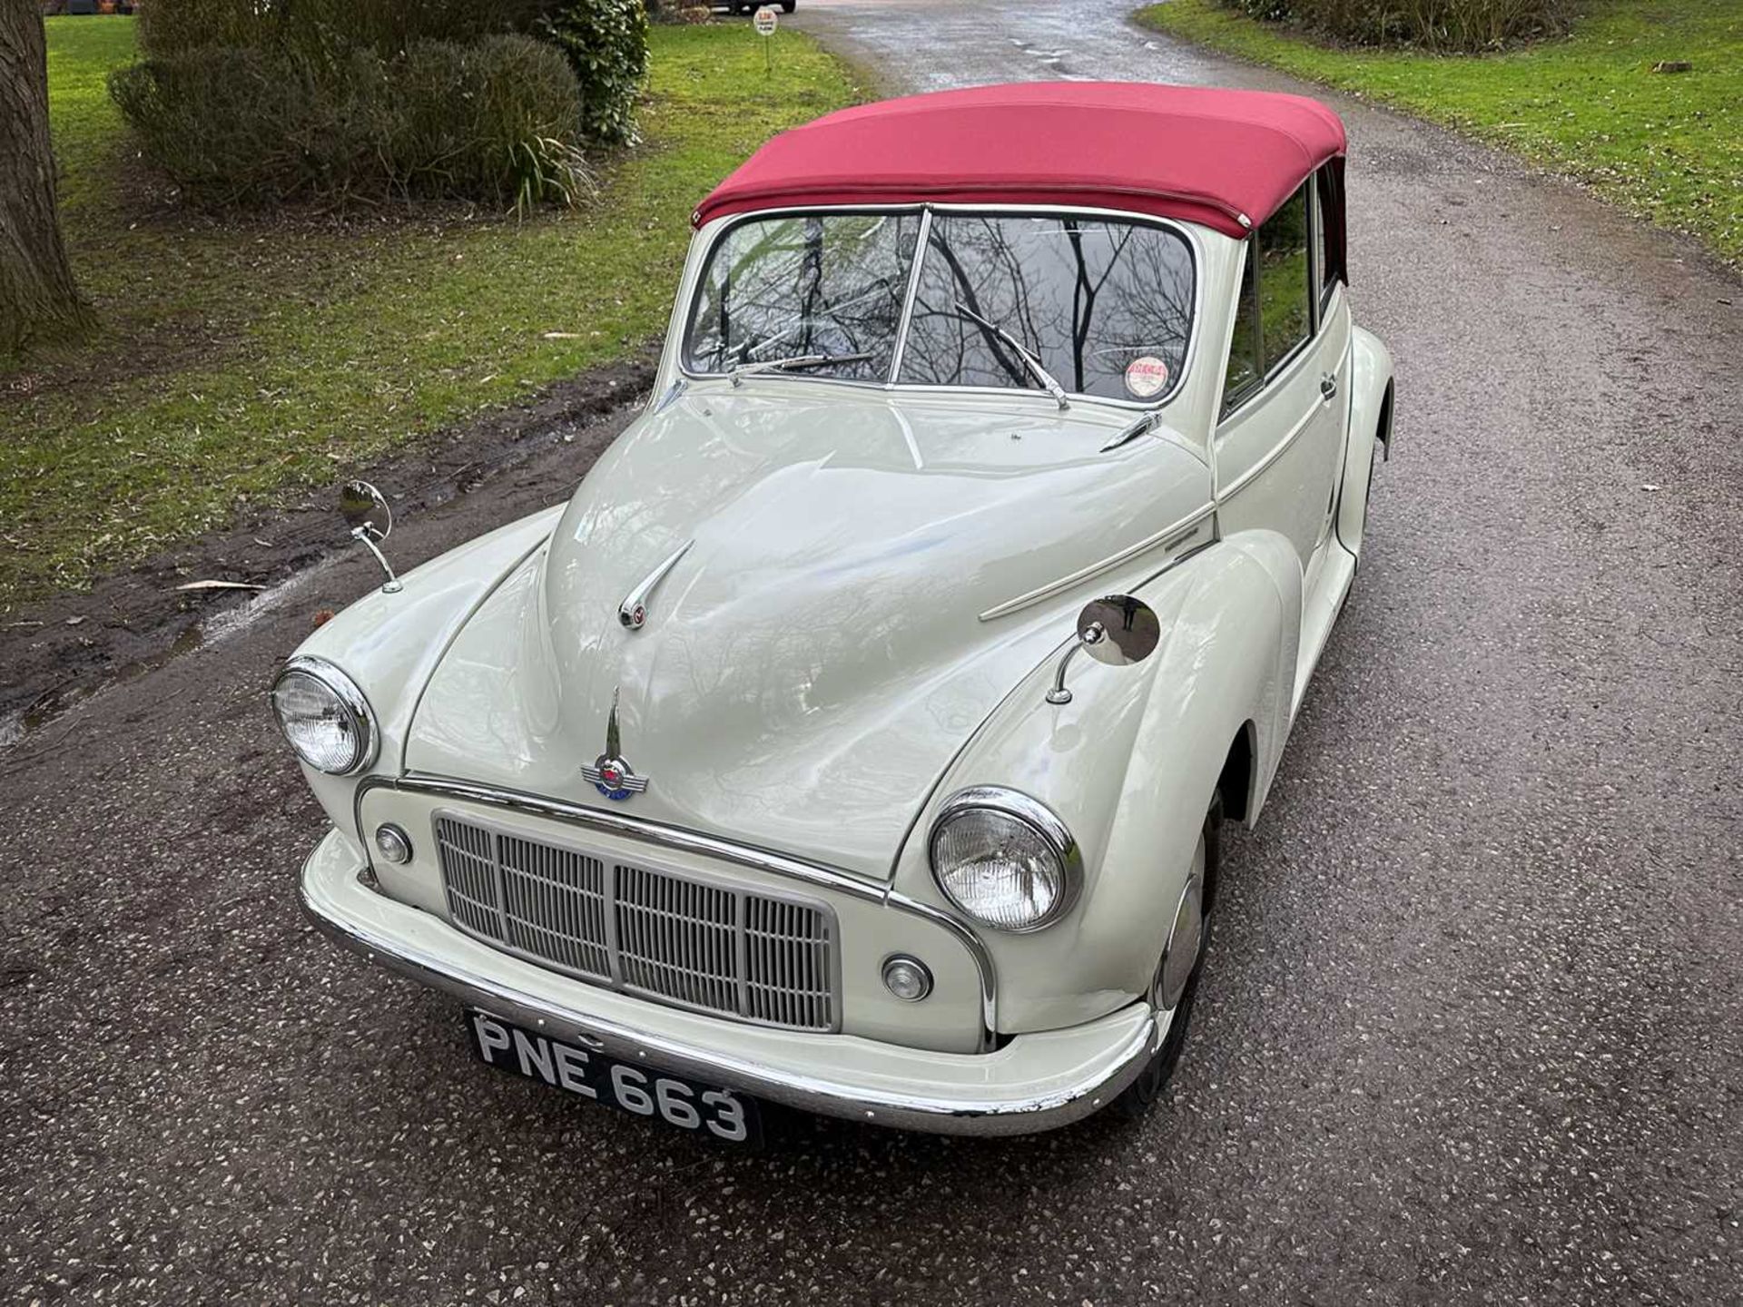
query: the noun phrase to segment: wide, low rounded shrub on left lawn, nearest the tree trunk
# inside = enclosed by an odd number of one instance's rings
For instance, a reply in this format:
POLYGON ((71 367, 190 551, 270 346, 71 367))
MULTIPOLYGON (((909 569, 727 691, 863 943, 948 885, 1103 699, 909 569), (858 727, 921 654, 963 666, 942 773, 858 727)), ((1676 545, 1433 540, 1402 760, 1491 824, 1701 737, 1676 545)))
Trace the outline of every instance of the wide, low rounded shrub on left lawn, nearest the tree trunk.
POLYGON ((573 202, 587 185, 575 77, 530 37, 413 40, 387 56, 195 45, 115 70, 110 92, 146 159, 209 204, 467 197, 519 209, 573 202))

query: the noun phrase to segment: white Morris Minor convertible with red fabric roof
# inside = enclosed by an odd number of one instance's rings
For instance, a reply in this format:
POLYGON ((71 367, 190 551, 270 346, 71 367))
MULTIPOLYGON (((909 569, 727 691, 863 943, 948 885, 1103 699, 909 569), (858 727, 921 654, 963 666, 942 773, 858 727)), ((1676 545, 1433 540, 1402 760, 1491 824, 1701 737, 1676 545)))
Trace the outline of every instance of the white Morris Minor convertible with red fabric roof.
MULTIPOLYGON (((1342 124, 917 96, 774 138, 695 228, 573 497, 284 664, 305 911, 486 1063, 713 1138, 1145 1107, 1391 441, 1342 124)), ((343 507, 387 566, 385 500, 343 507)))

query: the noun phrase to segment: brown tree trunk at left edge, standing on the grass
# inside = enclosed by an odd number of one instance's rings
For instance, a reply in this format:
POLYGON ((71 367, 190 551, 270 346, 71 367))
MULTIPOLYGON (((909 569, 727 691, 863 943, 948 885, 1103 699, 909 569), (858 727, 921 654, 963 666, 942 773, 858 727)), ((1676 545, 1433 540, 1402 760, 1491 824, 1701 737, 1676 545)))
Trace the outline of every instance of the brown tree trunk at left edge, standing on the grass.
POLYGON ((38 0, 0 0, 0 356, 92 326, 54 213, 38 0))

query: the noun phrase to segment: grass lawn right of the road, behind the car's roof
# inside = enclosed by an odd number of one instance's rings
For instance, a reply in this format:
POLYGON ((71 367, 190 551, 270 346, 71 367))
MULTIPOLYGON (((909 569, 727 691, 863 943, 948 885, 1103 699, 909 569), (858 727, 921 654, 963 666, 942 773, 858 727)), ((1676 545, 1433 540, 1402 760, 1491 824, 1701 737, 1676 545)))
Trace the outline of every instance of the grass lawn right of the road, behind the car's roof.
POLYGON ((1211 0, 1138 21, 1466 129, 1743 263, 1738 0, 1590 0, 1565 40, 1468 58, 1328 49, 1211 0), (1675 59, 1692 71, 1649 71, 1675 59))

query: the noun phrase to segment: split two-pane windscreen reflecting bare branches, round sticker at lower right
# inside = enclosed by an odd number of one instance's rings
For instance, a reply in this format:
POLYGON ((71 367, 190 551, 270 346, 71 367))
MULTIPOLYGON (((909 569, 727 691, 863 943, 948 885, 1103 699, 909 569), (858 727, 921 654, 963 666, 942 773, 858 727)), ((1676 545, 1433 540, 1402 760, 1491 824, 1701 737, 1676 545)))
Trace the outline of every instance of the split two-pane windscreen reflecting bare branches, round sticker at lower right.
POLYGON ((1194 268, 1175 230, 1117 218, 934 213, 913 274, 917 213, 807 214, 734 225, 702 272, 690 371, 798 361, 795 375, 1046 389, 1129 403, 1173 392, 1192 328, 1194 268))

